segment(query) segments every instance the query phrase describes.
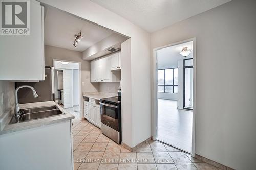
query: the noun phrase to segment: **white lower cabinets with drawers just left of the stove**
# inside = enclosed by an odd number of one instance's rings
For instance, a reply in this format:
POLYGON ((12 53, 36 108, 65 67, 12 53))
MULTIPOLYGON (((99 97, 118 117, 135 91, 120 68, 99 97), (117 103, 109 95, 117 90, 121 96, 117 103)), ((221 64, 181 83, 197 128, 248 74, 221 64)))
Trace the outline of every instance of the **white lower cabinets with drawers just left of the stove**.
POLYGON ((84 118, 100 128, 100 105, 84 101, 84 118))

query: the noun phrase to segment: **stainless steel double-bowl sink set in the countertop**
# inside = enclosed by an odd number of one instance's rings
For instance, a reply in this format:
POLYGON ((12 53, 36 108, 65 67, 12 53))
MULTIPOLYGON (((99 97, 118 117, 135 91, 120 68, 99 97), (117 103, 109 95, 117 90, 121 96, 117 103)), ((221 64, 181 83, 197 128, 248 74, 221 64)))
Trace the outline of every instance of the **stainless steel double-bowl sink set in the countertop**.
POLYGON ((20 110, 20 113, 21 116, 19 122, 17 122, 13 117, 9 124, 65 114, 55 105, 22 109, 20 110))

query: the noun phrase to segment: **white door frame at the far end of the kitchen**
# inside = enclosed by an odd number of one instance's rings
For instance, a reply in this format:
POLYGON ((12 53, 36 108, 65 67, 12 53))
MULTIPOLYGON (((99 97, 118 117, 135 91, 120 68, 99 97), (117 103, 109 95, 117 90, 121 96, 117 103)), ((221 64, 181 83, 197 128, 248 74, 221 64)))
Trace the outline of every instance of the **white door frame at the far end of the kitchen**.
MULTIPOLYGON (((77 61, 70 61, 70 60, 61 60, 61 59, 52 59, 52 65, 53 67, 55 66, 54 65, 54 61, 65 61, 65 62, 71 62, 71 63, 78 63, 79 64, 79 108, 80 108, 80 116, 81 116, 81 120, 84 118, 83 116, 83 107, 82 107, 82 104, 83 104, 83 98, 82 98, 82 86, 81 86, 81 62, 77 62, 77 61)), ((55 67, 54 67, 55 69, 55 67)))

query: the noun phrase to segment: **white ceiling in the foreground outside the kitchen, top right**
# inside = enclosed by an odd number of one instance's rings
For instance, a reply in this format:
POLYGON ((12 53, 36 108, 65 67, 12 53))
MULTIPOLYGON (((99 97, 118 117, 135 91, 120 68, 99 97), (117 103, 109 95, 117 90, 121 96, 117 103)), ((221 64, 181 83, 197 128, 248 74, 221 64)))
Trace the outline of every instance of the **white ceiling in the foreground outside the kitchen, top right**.
POLYGON ((231 0, 91 0, 148 32, 195 16, 231 0))

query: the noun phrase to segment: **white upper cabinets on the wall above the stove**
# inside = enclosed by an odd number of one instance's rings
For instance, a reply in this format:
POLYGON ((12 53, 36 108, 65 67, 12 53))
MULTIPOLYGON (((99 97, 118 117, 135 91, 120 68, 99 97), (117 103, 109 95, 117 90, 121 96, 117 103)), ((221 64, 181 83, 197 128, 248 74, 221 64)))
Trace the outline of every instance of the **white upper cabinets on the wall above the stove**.
POLYGON ((91 82, 119 82, 121 78, 120 71, 120 52, 100 59, 91 61, 91 82), (115 65, 116 69, 111 69, 115 65))

